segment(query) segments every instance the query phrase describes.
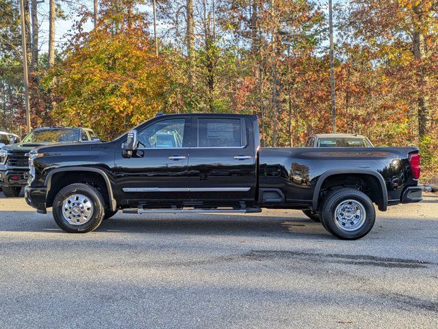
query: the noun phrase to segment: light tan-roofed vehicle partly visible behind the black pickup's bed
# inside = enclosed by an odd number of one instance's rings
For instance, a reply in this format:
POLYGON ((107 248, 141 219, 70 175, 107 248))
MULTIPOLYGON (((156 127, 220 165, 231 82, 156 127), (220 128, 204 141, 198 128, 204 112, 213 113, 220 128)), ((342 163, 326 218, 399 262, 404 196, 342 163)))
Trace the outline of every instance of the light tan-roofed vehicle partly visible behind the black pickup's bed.
POLYGON ((374 147, 370 140, 358 134, 315 134, 309 136, 305 147, 374 147))

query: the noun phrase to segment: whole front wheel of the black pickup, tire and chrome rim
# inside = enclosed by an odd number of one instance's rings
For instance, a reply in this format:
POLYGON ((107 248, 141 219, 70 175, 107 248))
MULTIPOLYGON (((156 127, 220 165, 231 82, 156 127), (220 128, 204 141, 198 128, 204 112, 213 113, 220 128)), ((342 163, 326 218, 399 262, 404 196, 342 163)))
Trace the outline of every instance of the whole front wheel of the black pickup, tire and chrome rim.
POLYGON ((87 184, 71 184, 53 199, 53 218, 62 230, 86 233, 101 225, 105 201, 96 188, 87 184))

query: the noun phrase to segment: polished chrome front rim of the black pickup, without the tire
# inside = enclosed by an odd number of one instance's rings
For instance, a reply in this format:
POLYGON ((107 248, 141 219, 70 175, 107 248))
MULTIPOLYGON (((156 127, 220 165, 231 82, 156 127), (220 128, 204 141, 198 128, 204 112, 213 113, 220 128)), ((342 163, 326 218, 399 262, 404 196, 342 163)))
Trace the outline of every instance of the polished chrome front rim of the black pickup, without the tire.
POLYGON ((93 205, 89 197, 73 194, 62 202, 62 216, 72 225, 82 225, 93 215, 93 205))

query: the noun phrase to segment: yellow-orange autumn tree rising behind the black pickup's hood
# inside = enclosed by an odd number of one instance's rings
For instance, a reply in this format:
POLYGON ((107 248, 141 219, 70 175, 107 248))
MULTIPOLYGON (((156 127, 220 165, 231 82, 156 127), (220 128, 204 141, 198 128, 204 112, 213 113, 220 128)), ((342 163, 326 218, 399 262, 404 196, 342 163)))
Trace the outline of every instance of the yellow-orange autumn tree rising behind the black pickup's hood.
POLYGON ((162 110, 168 89, 169 68, 144 34, 147 22, 129 10, 132 1, 119 2, 101 2, 99 25, 76 34, 45 79, 60 123, 92 127, 105 139, 162 110))

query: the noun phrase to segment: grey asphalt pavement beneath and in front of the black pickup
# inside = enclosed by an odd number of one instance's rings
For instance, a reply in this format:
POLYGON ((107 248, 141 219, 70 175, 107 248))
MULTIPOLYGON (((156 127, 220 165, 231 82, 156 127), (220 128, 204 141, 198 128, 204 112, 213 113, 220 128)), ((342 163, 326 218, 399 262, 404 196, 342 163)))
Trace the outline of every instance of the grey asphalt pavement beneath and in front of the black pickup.
POLYGON ((438 195, 360 241, 295 210, 66 234, 1 197, 0 328, 438 328, 438 195))

